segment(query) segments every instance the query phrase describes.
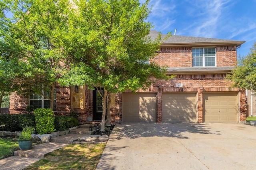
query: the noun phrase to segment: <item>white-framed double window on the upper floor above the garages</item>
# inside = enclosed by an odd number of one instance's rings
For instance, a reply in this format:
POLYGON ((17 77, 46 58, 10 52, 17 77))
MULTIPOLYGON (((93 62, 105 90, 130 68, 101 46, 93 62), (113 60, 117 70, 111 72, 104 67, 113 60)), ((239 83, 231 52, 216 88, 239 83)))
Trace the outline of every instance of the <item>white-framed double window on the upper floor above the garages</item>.
POLYGON ((204 47, 193 48, 193 67, 214 67, 216 66, 216 48, 204 47))

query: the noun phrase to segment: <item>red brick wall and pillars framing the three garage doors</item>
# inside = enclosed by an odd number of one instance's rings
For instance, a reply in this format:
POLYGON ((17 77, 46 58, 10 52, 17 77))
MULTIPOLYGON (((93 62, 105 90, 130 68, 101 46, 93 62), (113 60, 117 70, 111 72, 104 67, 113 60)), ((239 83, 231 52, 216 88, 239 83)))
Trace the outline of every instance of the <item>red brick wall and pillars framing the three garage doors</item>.
MULTIPOLYGON (((169 81, 160 80, 153 83, 147 90, 137 92, 157 92, 157 122, 162 122, 162 92, 196 92, 198 98, 198 122, 203 122, 203 92, 239 92, 239 121, 246 120, 246 96, 245 91, 232 88, 230 81, 224 79, 226 74, 203 74, 203 75, 177 75, 169 81), (182 83, 183 87, 176 87, 176 83, 182 83)), ((127 90, 126 92, 131 92, 127 90)), ((122 97, 120 98, 122 103, 122 97)), ((122 108, 122 107, 121 107, 122 108)), ((120 117, 122 110, 120 108, 120 117)), ((122 121, 122 119, 120 119, 122 121)))

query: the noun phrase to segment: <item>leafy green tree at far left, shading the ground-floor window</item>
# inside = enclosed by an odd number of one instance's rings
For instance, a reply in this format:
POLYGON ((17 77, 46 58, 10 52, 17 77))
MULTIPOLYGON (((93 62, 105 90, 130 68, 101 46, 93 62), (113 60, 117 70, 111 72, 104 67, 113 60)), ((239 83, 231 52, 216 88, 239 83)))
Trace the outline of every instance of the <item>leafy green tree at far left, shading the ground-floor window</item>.
MULTIPOLYGON (((0 2, 0 61, 3 59, 5 66, 0 64, 0 96, 3 91, 6 95, 17 90, 26 95, 40 95, 42 90, 54 93, 64 66, 58 44, 68 26, 70 5, 69 0, 0 2), (12 18, 6 17, 8 12, 12 18)), ((53 109, 53 95, 45 97, 53 109)))

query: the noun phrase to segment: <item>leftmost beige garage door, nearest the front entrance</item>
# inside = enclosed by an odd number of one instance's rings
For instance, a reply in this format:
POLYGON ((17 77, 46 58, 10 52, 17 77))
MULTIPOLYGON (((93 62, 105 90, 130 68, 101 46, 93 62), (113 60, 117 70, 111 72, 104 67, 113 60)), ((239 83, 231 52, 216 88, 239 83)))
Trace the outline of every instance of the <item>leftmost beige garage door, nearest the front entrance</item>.
POLYGON ((122 93, 123 122, 156 122, 156 93, 122 93))

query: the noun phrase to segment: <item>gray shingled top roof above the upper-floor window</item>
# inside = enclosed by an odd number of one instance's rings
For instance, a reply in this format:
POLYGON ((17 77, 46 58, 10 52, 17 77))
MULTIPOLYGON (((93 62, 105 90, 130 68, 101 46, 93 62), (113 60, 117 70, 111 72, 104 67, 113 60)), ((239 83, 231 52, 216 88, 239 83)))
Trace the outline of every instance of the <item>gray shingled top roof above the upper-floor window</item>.
MULTIPOLYGON (((156 30, 150 30, 149 34, 150 38, 152 40, 156 39, 158 36, 158 32, 156 30)), ((162 34, 162 38, 165 38, 166 34, 162 34)), ((167 38, 164 44, 204 44, 204 43, 234 43, 237 45, 241 45, 244 43, 244 41, 236 41, 236 40, 222 40, 222 39, 216 39, 216 38, 200 38, 200 37, 190 37, 190 36, 174 36, 172 35, 170 38, 167 38)))

